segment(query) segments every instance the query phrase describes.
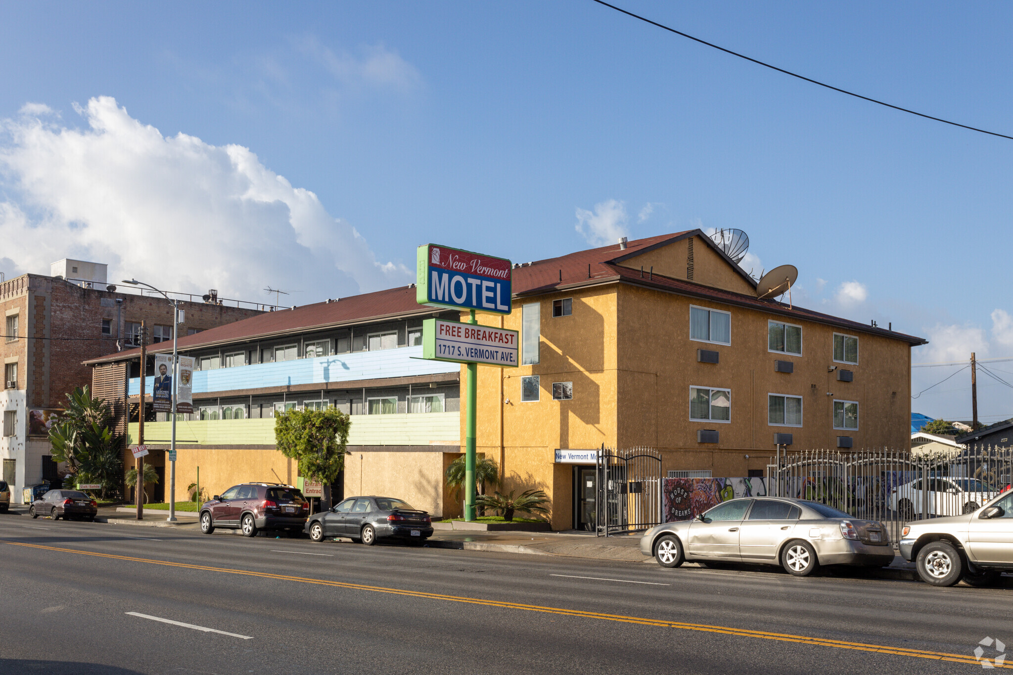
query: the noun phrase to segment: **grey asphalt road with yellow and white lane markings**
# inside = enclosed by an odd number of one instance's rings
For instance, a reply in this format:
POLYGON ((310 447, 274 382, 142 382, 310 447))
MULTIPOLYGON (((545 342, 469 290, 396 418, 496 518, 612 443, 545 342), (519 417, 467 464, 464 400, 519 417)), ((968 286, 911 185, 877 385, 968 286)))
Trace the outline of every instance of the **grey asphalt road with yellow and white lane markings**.
POLYGON ((1009 588, 0 515, 0 673, 970 673, 1011 619, 1009 588))

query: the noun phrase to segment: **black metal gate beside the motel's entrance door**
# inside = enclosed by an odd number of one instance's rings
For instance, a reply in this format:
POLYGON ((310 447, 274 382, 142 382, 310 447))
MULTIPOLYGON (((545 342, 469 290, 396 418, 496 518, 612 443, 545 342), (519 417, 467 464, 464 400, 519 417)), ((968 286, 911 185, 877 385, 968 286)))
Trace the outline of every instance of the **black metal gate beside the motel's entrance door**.
POLYGON ((598 453, 599 536, 636 532, 661 522, 661 455, 648 447, 598 453))

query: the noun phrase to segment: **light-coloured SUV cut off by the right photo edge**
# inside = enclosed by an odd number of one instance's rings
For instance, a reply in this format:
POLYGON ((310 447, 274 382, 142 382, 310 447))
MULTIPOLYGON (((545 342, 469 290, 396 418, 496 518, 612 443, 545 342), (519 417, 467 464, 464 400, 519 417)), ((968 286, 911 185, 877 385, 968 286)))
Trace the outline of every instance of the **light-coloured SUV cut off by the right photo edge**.
POLYGON ((973 513, 907 523, 901 556, 933 586, 988 586, 1013 569, 1013 492, 973 513))

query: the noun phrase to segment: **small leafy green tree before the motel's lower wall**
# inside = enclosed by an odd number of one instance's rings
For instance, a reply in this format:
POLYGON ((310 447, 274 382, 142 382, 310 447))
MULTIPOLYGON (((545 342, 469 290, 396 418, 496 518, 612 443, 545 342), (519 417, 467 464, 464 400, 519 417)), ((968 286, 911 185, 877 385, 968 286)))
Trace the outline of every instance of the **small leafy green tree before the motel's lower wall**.
POLYGON ((287 457, 299 462, 303 478, 327 485, 344 469, 352 418, 337 410, 290 410, 275 417, 275 442, 287 457))

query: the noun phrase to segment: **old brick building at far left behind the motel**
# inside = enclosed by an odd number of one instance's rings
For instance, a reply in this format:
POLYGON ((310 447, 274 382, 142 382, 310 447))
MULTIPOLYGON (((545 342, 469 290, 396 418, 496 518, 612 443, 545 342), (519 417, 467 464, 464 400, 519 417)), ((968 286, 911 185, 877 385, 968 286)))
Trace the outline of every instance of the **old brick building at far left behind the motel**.
MULTIPOLYGON (((105 265, 76 260, 54 263, 51 276, 22 274, 0 283, 0 337, 3 389, 0 411, 2 478, 21 502, 25 486, 57 478, 50 459, 48 427, 65 395, 92 384, 82 361, 139 344, 141 321, 149 340, 172 339, 172 306, 161 297, 124 292, 105 283, 105 265), (83 276, 75 278, 78 270, 83 276)), ((194 299, 200 300, 200 299, 194 299)), ((262 306, 243 303, 183 302, 180 335, 260 314, 262 306)), ((126 431, 126 429, 124 429, 126 431)))

